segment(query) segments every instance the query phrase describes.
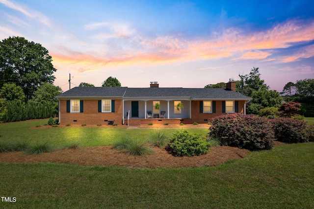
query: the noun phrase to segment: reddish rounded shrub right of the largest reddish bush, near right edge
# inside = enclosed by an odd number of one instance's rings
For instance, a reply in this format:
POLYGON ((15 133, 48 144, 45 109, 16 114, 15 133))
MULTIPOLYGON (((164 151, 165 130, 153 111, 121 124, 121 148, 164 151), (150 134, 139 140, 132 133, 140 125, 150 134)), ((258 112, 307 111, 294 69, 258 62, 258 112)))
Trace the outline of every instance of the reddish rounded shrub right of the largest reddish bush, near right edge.
POLYGON ((295 118, 275 118, 273 119, 273 129, 275 138, 288 143, 305 142, 305 130, 307 124, 304 120, 295 118))

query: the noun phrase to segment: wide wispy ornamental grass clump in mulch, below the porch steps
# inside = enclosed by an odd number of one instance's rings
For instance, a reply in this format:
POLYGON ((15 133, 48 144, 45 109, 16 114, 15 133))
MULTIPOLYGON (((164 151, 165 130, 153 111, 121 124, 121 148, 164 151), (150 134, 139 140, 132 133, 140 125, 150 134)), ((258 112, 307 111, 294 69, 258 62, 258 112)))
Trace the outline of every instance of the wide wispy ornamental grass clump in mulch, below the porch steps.
POLYGON ((132 139, 131 137, 123 137, 117 141, 113 148, 128 152, 130 155, 146 155, 152 154, 152 149, 145 144, 145 141, 132 139))

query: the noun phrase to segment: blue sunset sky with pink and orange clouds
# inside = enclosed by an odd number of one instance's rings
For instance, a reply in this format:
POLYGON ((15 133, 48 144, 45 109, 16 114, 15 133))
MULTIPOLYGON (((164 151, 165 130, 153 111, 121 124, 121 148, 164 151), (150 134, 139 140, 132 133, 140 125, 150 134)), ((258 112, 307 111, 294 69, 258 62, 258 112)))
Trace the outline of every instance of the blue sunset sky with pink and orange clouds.
POLYGON ((271 90, 314 78, 314 0, 0 0, 0 40, 49 50, 54 85, 204 88, 259 67, 271 90))

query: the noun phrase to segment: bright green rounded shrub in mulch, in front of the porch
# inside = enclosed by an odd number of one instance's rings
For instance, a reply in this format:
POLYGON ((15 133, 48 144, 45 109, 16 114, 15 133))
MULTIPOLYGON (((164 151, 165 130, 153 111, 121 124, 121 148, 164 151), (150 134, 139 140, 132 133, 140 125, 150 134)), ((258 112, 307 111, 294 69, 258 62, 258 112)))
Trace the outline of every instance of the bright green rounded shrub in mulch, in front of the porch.
POLYGON ((209 152, 210 144, 199 134, 192 134, 186 130, 177 131, 169 138, 168 147, 175 156, 195 156, 209 152))

